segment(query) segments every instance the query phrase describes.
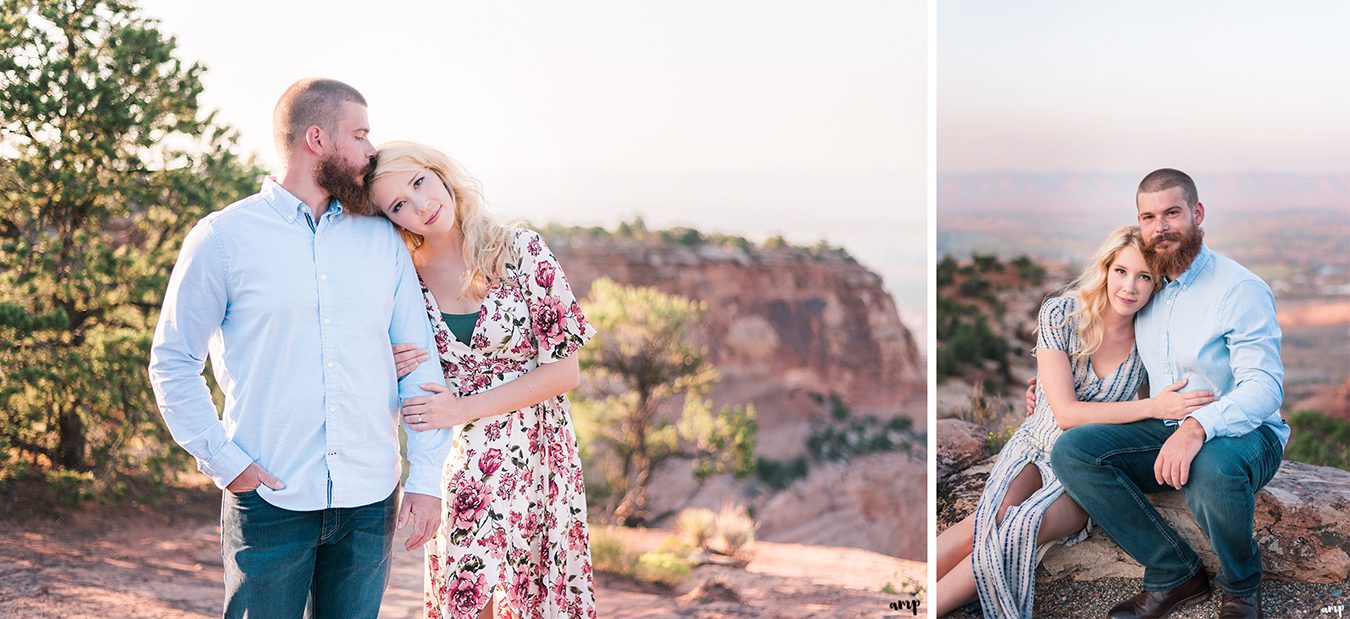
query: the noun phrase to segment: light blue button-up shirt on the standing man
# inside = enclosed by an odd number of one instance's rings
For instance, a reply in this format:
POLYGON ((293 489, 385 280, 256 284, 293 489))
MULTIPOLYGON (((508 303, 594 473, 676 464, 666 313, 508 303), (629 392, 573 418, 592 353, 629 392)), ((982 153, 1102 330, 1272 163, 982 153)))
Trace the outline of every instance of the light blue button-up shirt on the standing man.
MULTIPOLYGON (((174 440, 224 488, 256 461, 288 510, 385 499, 402 472, 400 398, 443 383, 436 363, 397 379, 392 343, 435 349, 421 286, 383 217, 316 217, 274 179, 204 217, 169 279, 150 383, 174 440), (225 395, 207 390, 207 355, 225 395)), ((440 496, 451 430, 408 432, 404 490, 440 496)))

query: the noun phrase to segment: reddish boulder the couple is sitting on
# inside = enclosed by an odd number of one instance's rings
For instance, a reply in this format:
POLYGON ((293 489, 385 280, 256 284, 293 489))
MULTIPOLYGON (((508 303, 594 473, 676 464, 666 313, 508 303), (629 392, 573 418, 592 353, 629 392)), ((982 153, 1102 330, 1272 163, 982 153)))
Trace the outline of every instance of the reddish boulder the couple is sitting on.
MULTIPOLYGON (((990 457, 946 480, 945 496, 938 495, 938 529, 975 510, 992 464, 994 457, 990 457)), ((1218 561, 1185 496, 1169 491, 1149 495, 1149 500, 1200 554, 1206 568, 1216 572, 1218 561)), ((1346 514, 1350 514, 1350 471, 1285 461, 1256 499, 1253 535, 1261 546, 1265 576, 1308 583, 1350 579, 1350 518, 1346 514)), ((1099 529, 1080 543, 1050 549, 1041 566, 1048 580, 1143 576, 1143 568, 1099 529)))

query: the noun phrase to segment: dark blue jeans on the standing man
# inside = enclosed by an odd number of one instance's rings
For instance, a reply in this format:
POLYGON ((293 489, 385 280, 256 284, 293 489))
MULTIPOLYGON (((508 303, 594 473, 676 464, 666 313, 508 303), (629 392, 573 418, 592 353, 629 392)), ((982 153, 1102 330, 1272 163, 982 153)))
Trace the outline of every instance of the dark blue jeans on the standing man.
POLYGON ((290 511, 225 491, 225 618, 371 618, 389 584, 398 491, 362 507, 290 511))

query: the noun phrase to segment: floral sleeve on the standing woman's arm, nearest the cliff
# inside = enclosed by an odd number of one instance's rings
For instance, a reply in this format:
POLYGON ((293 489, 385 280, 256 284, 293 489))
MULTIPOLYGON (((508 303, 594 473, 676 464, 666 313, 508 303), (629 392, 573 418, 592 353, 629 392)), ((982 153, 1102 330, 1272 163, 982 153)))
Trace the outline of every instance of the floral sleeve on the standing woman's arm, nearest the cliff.
POLYGON ((536 232, 524 231, 517 248, 526 279, 529 330, 539 347, 539 363, 567 359, 595 334, 595 328, 586 321, 563 268, 558 266, 558 259, 544 244, 544 239, 536 232))

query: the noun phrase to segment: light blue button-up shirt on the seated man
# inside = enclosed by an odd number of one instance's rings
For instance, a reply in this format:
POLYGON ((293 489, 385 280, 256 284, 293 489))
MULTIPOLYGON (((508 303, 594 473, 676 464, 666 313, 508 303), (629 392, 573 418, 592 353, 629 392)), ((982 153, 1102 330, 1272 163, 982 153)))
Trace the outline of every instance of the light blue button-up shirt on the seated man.
POLYGON ((1251 271, 1202 245, 1191 268, 1139 312, 1134 337, 1152 391, 1187 378, 1181 391, 1219 398, 1188 415, 1204 426, 1206 441, 1262 423, 1281 445, 1289 440, 1280 418, 1284 363, 1274 295, 1251 271))

